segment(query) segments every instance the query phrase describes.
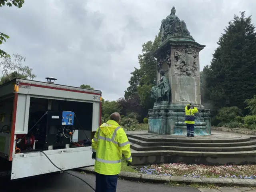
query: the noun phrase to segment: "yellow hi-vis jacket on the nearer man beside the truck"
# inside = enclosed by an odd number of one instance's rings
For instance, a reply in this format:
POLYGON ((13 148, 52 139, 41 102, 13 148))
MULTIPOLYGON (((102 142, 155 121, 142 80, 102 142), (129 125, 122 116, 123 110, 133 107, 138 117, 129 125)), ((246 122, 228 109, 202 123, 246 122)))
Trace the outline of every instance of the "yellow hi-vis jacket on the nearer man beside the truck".
POLYGON ((122 154, 132 162, 130 143, 124 129, 113 120, 102 124, 92 139, 96 152, 94 171, 103 175, 117 175, 121 171, 122 154))

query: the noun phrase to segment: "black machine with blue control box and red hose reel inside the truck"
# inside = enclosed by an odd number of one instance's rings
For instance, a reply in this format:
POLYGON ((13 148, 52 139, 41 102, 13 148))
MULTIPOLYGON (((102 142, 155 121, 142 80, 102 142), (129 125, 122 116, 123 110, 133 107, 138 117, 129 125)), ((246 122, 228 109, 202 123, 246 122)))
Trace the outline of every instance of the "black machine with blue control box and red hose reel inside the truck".
MULTIPOLYGON (((31 115, 31 125, 36 122, 42 112, 31 115)), ((28 147, 40 150, 69 148, 73 142, 78 142, 78 130, 74 128, 74 112, 48 110, 36 127, 31 128, 31 134, 22 139, 21 148, 28 147)))

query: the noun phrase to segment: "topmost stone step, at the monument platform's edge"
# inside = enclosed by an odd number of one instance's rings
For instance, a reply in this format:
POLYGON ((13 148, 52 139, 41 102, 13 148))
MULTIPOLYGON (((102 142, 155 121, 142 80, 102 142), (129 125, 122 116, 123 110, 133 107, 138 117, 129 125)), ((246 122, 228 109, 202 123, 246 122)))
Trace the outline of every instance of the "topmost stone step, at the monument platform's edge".
POLYGON ((126 134, 128 138, 134 138, 138 140, 144 140, 147 142, 183 142, 183 143, 235 143, 235 142, 246 142, 250 141, 250 136, 241 136, 238 138, 230 138, 230 139, 218 139, 218 138, 212 138, 212 139, 207 139, 207 138, 202 138, 202 137, 194 137, 194 138, 187 138, 186 136, 178 136, 178 138, 170 138, 170 137, 163 137, 162 135, 158 137, 158 135, 147 138, 150 135, 134 135, 134 134, 126 134))

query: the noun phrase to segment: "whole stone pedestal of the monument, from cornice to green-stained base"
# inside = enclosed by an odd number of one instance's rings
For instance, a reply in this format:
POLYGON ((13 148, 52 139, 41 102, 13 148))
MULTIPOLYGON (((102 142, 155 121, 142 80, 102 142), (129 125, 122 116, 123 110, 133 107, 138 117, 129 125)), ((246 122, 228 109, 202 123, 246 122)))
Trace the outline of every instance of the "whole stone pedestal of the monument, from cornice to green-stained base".
POLYGON ((185 106, 193 104, 198 108, 195 120, 195 135, 209 135, 210 110, 201 104, 199 52, 204 48, 197 42, 171 37, 154 52, 157 58, 157 82, 160 70, 168 78, 171 102, 155 103, 149 110, 149 132, 157 134, 186 135, 185 106))

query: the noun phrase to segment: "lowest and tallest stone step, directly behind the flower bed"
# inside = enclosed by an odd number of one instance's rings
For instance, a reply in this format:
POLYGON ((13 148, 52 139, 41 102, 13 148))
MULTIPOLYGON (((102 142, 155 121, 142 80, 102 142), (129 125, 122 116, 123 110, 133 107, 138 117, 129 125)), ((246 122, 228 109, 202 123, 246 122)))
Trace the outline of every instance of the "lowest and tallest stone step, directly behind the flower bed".
POLYGON ((256 150, 240 152, 191 152, 191 151, 135 151, 132 152, 132 165, 162 163, 186 163, 204 165, 255 164, 256 150))

